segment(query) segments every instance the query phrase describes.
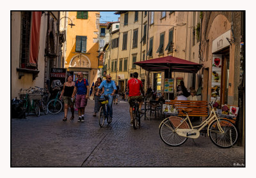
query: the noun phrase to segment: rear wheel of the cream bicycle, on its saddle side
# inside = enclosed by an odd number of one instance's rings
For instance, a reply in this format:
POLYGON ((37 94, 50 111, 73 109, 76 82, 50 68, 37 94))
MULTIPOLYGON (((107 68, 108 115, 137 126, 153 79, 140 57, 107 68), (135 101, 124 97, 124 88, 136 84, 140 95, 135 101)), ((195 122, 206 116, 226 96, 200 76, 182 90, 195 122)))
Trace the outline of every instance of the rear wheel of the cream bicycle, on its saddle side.
MULTIPOLYGON (((182 137, 175 132, 175 128, 182 122, 182 118, 172 116, 164 119, 160 125, 159 134, 163 142, 170 146, 182 145, 188 140, 187 137, 182 137)), ((179 128, 189 128, 188 122, 184 121, 179 128)))

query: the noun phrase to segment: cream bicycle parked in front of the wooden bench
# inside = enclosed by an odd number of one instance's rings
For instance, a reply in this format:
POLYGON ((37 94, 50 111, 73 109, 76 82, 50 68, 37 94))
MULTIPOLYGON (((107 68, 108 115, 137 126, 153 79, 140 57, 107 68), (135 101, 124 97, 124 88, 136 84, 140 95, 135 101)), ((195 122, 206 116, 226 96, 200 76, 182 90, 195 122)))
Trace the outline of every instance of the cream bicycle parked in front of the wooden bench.
POLYGON ((225 118, 219 118, 212 107, 212 102, 207 103, 207 105, 210 105, 211 113, 198 126, 191 124, 188 113, 193 110, 186 108, 182 109, 186 118, 171 116, 164 119, 159 125, 159 134, 163 142, 170 146, 182 145, 188 138, 198 138, 200 131, 208 125, 207 135, 213 144, 221 148, 232 147, 236 144, 238 134, 234 124, 225 118))

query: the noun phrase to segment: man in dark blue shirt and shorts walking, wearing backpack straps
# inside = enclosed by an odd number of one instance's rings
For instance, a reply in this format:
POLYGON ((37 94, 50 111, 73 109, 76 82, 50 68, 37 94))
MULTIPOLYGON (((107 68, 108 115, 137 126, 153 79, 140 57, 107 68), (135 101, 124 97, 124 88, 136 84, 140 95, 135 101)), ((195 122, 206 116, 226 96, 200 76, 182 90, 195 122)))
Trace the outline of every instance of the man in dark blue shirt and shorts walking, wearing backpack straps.
POLYGON ((89 98, 89 84, 88 81, 83 78, 82 72, 77 73, 77 78, 72 98, 77 94, 76 107, 78 108, 78 122, 84 122, 84 108, 89 98))

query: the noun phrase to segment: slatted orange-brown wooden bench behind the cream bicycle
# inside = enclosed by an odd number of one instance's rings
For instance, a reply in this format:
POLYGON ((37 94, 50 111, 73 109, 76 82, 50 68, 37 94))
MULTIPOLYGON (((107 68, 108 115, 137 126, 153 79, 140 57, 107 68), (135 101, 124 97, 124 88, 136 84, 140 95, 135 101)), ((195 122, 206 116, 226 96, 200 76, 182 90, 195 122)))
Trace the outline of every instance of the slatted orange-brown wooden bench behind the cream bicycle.
POLYGON ((207 101, 183 101, 183 100, 171 100, 169 102, 165 102, 167 105, 173 105, 176 110, 179 111, 179 116, 186 116, 182 112, 182 108, 186 108, 188 110, 193 110, 188 113, 189 116, 202 116, 206 117, 208 115, 208 107, 207 101))

